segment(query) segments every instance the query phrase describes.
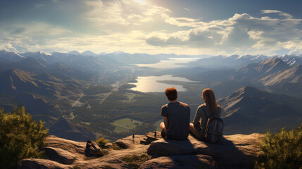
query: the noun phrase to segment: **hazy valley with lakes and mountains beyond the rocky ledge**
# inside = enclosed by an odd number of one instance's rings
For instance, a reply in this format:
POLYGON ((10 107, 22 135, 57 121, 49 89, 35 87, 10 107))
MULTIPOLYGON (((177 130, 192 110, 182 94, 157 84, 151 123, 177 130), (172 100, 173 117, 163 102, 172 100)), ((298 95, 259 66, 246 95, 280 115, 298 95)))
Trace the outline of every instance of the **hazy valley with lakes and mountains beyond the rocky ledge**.
POLYGON ((25 105, 59 137, 115 140, 158 130, 166 87, 179 90, 178 100, 191 106, 191 120, 203 103, 202 90, 210 87, 225 110, 225 134, 301 123, 300 55, 194 55, 189 62, 183 57, 2 50, 0 107, 25 105), (166 68, 153 66, 157 63, 166 68))

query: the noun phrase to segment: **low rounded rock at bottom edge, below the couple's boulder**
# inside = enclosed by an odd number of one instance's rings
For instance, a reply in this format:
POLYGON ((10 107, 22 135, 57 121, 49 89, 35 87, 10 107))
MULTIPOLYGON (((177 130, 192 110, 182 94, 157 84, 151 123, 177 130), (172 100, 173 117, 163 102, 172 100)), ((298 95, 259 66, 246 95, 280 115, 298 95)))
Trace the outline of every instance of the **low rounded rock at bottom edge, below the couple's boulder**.
POLYGON ((215 161, 206 155, 162 156, 146 161, 146 168, 215 168, 215 161))

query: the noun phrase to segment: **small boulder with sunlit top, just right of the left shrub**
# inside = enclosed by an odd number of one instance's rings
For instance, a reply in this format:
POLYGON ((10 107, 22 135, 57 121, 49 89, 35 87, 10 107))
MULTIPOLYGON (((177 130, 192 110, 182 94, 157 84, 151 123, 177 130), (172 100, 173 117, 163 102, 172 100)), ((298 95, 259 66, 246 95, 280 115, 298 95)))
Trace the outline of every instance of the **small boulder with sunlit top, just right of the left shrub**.
POLYGON ((71 154, 60 148, 54 148, 50 146, 43 147, 45 155, 49 157, 52 161, 57 161, 63 164, 72 164, 75 161, 75 154, 71 154))

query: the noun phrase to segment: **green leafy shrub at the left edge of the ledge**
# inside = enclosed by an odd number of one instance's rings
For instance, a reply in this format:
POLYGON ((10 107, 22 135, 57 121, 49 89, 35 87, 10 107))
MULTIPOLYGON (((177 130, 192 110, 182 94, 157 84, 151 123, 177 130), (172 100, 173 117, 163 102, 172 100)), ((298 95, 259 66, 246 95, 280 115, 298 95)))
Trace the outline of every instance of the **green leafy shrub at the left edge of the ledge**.
POLYGON ((15 168, 23 158, 40 158, 48 130, 42 121, 36 123, 25 107, 15 108, 13 113, 4 113, 0 108, 0 166, 15 168))

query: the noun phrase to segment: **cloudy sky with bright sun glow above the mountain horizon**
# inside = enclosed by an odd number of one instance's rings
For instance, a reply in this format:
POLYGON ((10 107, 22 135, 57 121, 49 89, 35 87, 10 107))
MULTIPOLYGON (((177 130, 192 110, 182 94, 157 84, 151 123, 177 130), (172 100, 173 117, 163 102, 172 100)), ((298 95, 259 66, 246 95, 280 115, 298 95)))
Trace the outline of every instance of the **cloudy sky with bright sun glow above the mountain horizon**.
POLYGON ((0 50, 302 54, 298 0, 1 0, 0 50))

